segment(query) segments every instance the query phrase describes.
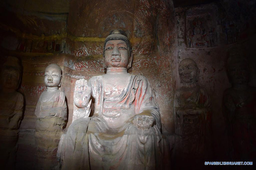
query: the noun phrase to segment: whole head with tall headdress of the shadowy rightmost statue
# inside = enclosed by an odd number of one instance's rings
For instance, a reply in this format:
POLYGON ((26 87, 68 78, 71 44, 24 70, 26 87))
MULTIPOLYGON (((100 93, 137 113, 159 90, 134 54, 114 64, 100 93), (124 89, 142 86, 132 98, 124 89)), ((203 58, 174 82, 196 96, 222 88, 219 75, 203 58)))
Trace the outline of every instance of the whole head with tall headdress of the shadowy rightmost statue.
POLYGON ((250 78, 249 64, 239 48, 230 50, 227 72, 233 85, 247 85, 250 78))

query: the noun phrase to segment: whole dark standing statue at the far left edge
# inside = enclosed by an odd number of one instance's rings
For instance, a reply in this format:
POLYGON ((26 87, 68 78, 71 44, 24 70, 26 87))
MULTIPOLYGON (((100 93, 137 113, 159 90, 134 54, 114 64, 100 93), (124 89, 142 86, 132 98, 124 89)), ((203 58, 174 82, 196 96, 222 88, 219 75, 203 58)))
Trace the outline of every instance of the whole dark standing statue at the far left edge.
POLYGON ((2 169, 15 169, 19 126, 24 98, 16 90, 21 80, 21 66, 9 56, 1 69, 0 89, 0 162, 2 169))

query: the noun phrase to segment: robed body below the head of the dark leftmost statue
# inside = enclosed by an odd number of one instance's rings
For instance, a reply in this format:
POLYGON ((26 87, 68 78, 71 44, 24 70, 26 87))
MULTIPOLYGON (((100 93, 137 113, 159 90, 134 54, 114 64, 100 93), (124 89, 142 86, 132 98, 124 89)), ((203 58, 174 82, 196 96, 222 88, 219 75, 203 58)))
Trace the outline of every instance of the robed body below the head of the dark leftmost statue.
POLYGON ((14 169, 24 98, 19 92, 13 92, 8 98, 0 96, 0 103, 1 167, 14 169))

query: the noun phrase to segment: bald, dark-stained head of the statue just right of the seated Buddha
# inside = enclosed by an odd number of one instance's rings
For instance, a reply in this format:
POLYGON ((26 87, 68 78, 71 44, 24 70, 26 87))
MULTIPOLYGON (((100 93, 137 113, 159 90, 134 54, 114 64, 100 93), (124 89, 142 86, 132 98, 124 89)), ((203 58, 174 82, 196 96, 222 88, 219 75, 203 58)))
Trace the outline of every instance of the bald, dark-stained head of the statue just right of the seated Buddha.
POLYGON ((179 75, 181 83, 195 83, 198 81, 199 69, 194 60, 190 58, 183 59, 179 64, 179 75))

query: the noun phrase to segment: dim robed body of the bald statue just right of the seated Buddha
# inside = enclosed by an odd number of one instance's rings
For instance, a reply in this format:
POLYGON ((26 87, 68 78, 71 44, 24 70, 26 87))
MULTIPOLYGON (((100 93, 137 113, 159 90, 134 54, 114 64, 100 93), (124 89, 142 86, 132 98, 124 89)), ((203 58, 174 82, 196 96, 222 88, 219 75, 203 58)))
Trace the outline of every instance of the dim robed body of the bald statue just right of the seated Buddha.
POLYGON ((211 115, 210 98, 206 90, 199 85, 192 90, 183 87, 176 90, 174 116, 175 132, 179 136, 175 143, 177 160, 194 162, 209 156, 211 115), (198 113, 189 114, 193 109, 197 109, 198 113))

